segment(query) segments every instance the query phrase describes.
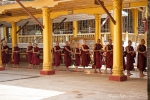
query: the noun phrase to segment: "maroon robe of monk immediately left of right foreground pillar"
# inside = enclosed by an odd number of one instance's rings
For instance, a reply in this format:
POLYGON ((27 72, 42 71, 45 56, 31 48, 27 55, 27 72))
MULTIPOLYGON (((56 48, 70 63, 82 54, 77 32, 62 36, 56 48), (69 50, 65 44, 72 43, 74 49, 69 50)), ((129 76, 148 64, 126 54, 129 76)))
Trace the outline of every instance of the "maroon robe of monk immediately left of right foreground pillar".
MULTIPOLYGON (((107 45, 108 50, 113 50, 113 45, 107 45)), ((113 52, 107 52, 106 53, 106 68, 112 68, 113 67, 113 52)))

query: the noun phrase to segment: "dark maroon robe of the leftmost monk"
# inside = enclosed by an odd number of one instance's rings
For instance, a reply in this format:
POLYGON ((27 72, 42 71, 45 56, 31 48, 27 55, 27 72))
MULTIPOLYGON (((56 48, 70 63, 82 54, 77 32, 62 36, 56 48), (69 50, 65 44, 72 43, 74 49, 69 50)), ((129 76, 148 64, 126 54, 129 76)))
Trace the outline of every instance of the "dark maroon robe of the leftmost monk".
MULTIPOLYGON (((9 49, 9 47, 6 45, 6 46, 3 46, 3 49, 9 49)), ((9 62, 9 50, 8 51, 3 51, 2 52, 2 63, 3 64, 6 64, 9 62)))

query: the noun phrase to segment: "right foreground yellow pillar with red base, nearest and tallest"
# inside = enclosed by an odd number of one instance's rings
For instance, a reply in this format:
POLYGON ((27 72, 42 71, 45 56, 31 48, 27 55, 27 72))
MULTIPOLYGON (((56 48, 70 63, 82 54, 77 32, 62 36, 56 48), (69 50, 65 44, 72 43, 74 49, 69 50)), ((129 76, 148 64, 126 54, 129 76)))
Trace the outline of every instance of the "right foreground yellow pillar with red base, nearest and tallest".
POLYGON ((114 20, 114 45, 113 45, 113 74, 109 80, 125 81, 127 76, 123 73, 122 51, 122 0, 113 0, 114 20))

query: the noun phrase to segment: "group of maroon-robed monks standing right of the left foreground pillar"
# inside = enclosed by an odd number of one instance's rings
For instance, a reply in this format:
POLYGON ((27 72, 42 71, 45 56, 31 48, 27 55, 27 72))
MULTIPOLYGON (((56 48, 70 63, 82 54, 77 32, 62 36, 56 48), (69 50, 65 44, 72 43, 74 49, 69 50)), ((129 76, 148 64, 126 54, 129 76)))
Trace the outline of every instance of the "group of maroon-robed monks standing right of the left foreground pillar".
MULTIPOLYGON (((110 74, 112 74, 113 69, 113 45, 112 40, 108 40, 108 45, 106 45, 105 49, 103 49, 102 44, 100 43, 100 39, 97 40, 97 43, 94 45, 94 72, 97 73, 97 69, 99 69, 99 73, 101 72, 101 67, 103 63, 106 63, 106 69, 104 70, 104 73, 107 73, 107 69, 110 68, 110 74), (105 61, 103 61, 104 54, 106 53, 105 61)), ((59 70, 59 66, 61 63, 61 54, 64 54, 64 64, 66 66, 66 69, 68 71, 68 67, 72 64, 72 57, 71 55, 74 55, 75 57, 75 71, 78 71, 78 66, 83 66, 83 71, 85 70, 85 67, 88 67, 91 62, 90 57, 90 48, 86 45, 86 40, 84 40, 84 43, 81 47, 79 47, 79 43, 76 44, 76 47, 74 50, 71 49, 68 42, 66 41, 66 45, 64 46, 63 50, 61 50, 59 46, 59 42, 56 42, 56 46, 53 48, 54 53, 54 66, 56 70, 59 70), (80 59, 82 61, 80 61, 80 59)), ((124 44, 124 42, 123 42, 124 44)), ((137 68, 139 70, 140 77, 145 76, 143 72, 146 70, 146 46, 145 46, 145 40, 142 39, 141 43, 138 45, 137 50, 137 68)), ((136 57, 136 51, 134 50, 132 46, 132 41, 128 41, 128 46, 123 47, 123 70, 127 70, 127 76, 132 75, 130 73, 131 70, 134 69, 134 63, 135 63, 135 57, 136 57), (126 57, 126 62, 125 62, 126 57)))

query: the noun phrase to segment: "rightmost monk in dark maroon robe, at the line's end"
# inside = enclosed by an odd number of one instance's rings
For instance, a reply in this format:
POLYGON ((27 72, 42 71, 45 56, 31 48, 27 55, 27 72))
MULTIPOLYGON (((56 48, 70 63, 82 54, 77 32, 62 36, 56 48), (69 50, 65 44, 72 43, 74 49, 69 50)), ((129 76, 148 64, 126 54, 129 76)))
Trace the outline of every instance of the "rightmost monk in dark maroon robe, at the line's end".
POLYGON ((141 40, 141 44, 139 44, 138 47, 137 47, 137 52, 138 52, 137 68, 139 69, 139 75, 140 75, 140 77, 145 76, 143 74, 143 71, 146 68, 146 61, 147 61, 146 46, 144 44, 145 44, 145 40, 142 39, 141 40))

